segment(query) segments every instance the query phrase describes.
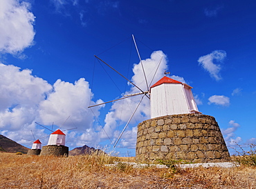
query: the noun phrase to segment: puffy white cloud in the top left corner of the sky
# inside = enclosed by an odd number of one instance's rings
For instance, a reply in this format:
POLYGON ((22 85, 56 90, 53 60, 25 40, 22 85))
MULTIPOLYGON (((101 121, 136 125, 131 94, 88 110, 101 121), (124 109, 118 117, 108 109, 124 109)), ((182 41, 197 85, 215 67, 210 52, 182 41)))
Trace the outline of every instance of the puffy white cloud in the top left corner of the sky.
POLYGON ((33 45, 35 17, 30 4, 18 0, 0 1, 0 52, 20 54, 33 45))

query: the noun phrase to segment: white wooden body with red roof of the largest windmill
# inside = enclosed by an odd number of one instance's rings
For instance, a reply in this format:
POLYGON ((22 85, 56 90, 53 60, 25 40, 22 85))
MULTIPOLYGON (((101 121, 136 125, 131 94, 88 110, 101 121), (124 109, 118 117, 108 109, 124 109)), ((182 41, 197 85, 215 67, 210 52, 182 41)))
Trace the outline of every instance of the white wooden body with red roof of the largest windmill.
POLYGON ((165 115, 199 113, 192 87, 169 77, 163 77, 150 88, 151 118, 165 115))

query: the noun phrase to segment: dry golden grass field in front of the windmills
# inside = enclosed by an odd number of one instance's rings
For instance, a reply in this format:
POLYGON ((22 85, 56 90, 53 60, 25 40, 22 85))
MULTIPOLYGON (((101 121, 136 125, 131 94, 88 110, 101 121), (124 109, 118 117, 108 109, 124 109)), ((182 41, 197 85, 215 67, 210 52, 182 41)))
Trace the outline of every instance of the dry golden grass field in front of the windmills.
POLYGON ((0 153, 0 188, 256 188, 256 167, 132 168, 134 158, 0 153))

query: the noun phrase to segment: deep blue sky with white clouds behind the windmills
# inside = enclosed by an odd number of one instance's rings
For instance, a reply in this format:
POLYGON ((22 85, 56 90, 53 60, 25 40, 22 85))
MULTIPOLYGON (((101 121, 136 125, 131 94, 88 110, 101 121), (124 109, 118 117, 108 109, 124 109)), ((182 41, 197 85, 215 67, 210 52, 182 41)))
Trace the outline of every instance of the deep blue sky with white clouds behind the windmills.
MULTIPOLYGON (((168 70, 193 87, 199 110, 215 117, 230 150, 255 143, 255 8, 255 1, 2 0, 0 133, 30 147, 30 130, 36 138, 50 133, 35 121, 54 123, 77 128, 66 131, 70 149, 112 150, 140 97, 88 109, 137 92, 93 55, 145 90, 134 34, 149 80, 163 57, 153 83, 168 70)), ((135 155, 136 125, 149 117, 145 98, 119 155, 135 155)))

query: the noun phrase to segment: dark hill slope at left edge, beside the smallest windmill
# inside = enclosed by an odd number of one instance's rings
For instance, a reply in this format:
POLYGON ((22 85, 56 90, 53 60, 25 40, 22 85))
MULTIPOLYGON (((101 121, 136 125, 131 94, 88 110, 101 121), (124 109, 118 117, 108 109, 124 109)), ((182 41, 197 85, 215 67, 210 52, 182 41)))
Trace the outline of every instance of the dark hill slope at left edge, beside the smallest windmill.
POLYGON ((26 148, 25 146, 22 146, 21 144, 4 137, 3 135, 0 135, 0 151, 12 153, 22 152, 26 154, 28 150, 29 148, 26 148))

